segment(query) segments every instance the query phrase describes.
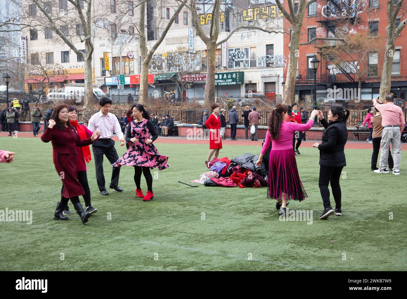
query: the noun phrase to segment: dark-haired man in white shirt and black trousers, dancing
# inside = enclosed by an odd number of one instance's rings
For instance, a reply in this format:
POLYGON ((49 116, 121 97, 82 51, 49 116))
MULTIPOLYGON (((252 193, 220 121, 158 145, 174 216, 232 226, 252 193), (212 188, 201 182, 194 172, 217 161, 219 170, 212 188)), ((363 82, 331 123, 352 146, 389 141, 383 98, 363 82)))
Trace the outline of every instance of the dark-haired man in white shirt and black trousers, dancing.
MULTIPOLYGON (((98 182, 98 188, 102 195, 109 195, 105 188, 105 176, 103 175, 103 155, 107 157, 110 164, 116 162, 119 157, 114 148, 114 140, 112 140, 113 131, 121 142, 120 146, 125 144, 125 138, 120 128, 120 124, 116 116, 109 113, 112 100, 103 97, 99 100, 101 110, 94 114, 90 120, 88 129, 92 132, 100 130, 101 134, 98 140, 92 145, 93 156, 95 158, 96 167, 96 181, 98 182)), ((122 192, 123 189, 118 186, 120 175, 120 167, 113 167, 112 180, 110 181, 110 189, 114 189, 118 192, 122 192)))

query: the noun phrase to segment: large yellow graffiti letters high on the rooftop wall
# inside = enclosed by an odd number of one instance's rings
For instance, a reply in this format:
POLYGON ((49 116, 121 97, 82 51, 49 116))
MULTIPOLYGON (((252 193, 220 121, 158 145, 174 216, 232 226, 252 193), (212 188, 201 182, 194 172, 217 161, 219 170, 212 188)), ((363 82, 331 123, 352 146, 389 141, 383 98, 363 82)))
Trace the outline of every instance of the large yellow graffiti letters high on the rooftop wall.
MULTIPOLYGON (((222 24, 222 13, 224 19, 224 12, 221 12, 221 24, 222 24)), ((248 22, 248 21, 257 21, 260 19, 268 19, 272 17, 282 17, 282 12, 278 9, 277 5, 268 5, 264 7, 252 7, 241 10, 232 11, 232 17, 234 21, 248 22)), ((212 22, 212 13, 204 13, 199 15, 199 23, 201 25, 207 25, 212 22)))

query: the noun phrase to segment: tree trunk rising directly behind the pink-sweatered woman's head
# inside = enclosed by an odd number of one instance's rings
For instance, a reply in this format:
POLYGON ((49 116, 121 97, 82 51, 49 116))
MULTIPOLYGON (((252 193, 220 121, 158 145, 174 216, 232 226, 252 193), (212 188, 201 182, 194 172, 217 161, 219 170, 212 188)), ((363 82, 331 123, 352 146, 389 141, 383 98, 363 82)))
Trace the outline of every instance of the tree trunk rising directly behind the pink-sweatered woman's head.
POLYGON ((287 78, 284 84, 284 96, 282 100, 284 105, 290 105, 295 100, 295 76, 297 73, 298 53, 300 49, 301 25, 302 24, 293 25, 291 31, 291 41, 288 46, 290 54, 288 59, 287 78))

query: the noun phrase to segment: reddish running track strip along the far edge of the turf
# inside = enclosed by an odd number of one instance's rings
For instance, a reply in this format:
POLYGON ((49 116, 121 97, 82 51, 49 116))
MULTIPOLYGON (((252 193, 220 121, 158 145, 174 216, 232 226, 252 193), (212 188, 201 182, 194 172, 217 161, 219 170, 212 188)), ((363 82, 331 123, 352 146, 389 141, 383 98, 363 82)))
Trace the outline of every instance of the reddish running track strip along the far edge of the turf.
MULTIPOLYGON (((7 137, 7 138, 13 138, 12 136, 7 136, 9 135, 9 132, 0 132, 0 137, 7 137)), ((41 133, 37 135, 37 139, 41 137, 41 133)), ((32 132, 18 132, 18 138, 34 138, 32 132)), ((118 142, 118 137, 114 135, 113 139, 118 142)), ((239 139, 236 141, 232 141, 230 139, 225 139, 222 140, 222 145, 252 145, 252 146, 261 146, 263 140, 259 139, 258 141, 251 141, 251 140, 245 140, 245 139, 239 139)), ((321 140, 307 140, 301 142, 301 147, 311 147, 315 142, 321 143, 321 140)), ((162 137, 158 136, 158 138, 154 141, 154 143, 175 143, 175 144, 208 144, 209 146, 209 140, 188 140, 187 137, 178 137, 178 136, 167 136, 167 137, 162 137)), ((208 147, 209 148, 209 147, 208 147)), ((354 149, 370 149, 373 150, 373 145, 366 142, 366 141, 353 141, 353 140, 348 140, 346 142, 345 148, 354 148, 354 149)), ((401 149, 402 150, 407 150, 407 143, 402 143, 401 144, 401 149)))

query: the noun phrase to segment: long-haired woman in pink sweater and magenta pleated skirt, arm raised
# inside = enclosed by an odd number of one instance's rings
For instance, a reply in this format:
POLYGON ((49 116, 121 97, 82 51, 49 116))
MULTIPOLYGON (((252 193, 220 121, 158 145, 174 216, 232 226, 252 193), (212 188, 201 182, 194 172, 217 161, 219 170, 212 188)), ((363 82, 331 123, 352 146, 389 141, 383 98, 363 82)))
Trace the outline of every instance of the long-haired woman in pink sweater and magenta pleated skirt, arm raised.
POLYGON ((276 199, 277 210, 280 210, 281 207, 279 215, 286 212, 287 200, 302 201, 305 197, 308 197, 298 174, 297 162, 295 161, 293 151, 293 134, 295 131, 310 129, 317 114, 317 110, 312 111, 311 117, 306 124, 285 122, 287 106, 278 104, 269 116, 269 129, 267 130, 266 140, 261 148, 256 165, 261 166, 263 155, 272 141, 267 197, 276 199))

